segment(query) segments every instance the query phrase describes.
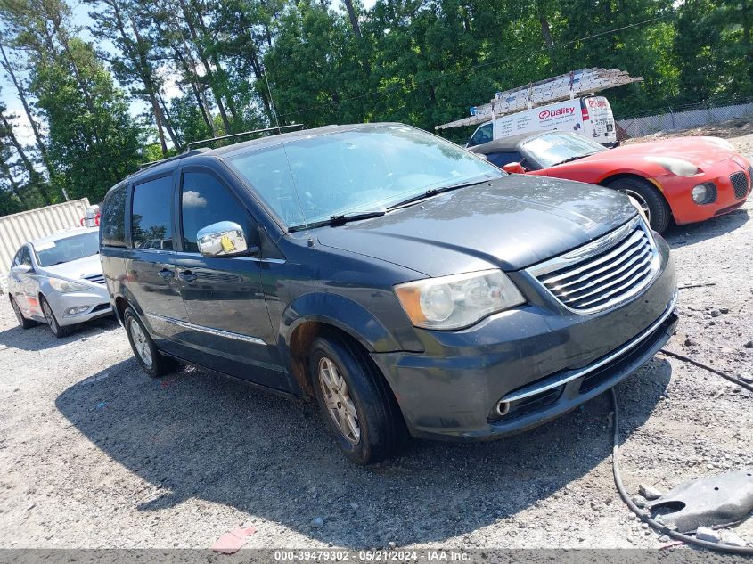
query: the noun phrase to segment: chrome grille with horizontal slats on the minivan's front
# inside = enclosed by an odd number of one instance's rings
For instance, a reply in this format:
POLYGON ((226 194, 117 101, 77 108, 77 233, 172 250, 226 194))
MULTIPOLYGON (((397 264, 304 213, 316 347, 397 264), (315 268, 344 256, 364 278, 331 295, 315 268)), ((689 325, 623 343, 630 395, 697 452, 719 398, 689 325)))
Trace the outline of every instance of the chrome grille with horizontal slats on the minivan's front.
POLYGON ((591 314, 643 290, 659 268, 651 231, 636 217, 600 239, 528 269, 570 311, 591 314))

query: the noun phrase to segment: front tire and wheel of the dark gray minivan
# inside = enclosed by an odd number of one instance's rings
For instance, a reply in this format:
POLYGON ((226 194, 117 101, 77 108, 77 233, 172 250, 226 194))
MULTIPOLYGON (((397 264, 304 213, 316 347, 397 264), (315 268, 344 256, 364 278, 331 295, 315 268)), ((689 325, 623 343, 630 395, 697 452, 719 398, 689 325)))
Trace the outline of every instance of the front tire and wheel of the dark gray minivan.
POLYGON ((397 451, 405 421, 387 382, 356 343, 337 334, 315 339, 309 369, 316 402, 340 451, 372 464, 397 451))

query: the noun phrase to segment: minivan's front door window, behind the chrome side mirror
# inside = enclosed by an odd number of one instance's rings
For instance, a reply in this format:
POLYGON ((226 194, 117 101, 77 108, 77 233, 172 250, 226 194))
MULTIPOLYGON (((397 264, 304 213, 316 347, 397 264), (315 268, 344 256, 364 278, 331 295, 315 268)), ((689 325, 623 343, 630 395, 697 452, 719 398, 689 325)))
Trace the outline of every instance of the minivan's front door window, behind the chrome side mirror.
MULTIPOLYGON (((240 202, 217 177, 206 172, 186 172, 181 188, 181 224, 183 247, 187 252, 198 253, 196 233, 207 225, 219 221, 232 221, 249 228, 250 218, 240 202)), ((248 236, 248 233, 247 233, 248 236)))

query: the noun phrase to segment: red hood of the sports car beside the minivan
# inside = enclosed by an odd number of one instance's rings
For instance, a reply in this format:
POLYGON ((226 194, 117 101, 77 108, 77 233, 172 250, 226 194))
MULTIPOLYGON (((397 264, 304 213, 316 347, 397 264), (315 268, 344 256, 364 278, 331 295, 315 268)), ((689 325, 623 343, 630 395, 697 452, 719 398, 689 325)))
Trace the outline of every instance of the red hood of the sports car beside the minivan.
POLYGON ((724 146, 726 142, 718 137, 676 137, 649 143, 622 145, 609 151, 597 152, 577 163, 596 160, 625 160, 645 157, 675 157, 691 162, 696 167, 704 168, 732 158, 737 151, 724 146))

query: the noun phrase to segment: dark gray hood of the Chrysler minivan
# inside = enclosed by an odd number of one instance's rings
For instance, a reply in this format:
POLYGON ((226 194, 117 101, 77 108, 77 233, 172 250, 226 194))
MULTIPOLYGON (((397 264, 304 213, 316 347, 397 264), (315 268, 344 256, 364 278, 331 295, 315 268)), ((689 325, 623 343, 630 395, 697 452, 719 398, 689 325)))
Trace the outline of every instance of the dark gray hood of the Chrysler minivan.
POLYGON ((596 239, 635 216, 612 190, 542 176, 504 176, 339 227, 323 245, 429 276, 518 270, 596 239))

